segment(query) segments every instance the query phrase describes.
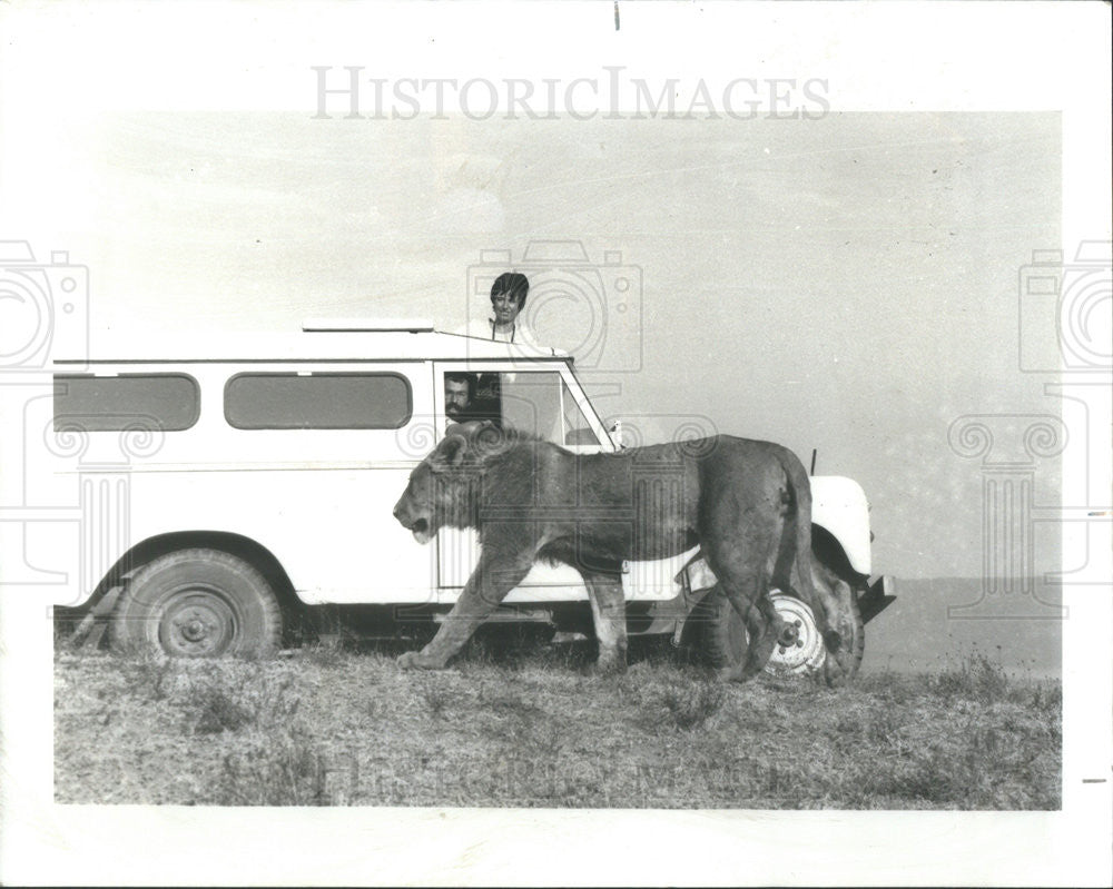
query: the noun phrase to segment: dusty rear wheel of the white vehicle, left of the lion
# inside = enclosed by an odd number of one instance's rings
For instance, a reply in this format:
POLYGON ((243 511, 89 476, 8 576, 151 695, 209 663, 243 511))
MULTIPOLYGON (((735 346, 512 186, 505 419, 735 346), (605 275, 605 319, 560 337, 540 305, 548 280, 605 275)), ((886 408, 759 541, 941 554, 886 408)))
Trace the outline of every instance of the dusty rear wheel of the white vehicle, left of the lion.
POLYGON ((219 550, 179 550, 148 562, 112 614, 117 651, 173 658, 260 655, 282 639, 274 590, 248 562, 219 550))

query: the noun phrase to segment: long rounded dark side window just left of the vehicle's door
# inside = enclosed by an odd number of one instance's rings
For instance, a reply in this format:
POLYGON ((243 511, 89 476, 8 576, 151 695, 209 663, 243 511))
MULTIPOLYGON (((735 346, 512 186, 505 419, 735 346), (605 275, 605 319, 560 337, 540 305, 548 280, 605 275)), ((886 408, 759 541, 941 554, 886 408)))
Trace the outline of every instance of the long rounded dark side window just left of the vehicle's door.
POLYGON ((237 429, 397 429, 413 392, 401 374, 237 374, 224 415, 237 429))

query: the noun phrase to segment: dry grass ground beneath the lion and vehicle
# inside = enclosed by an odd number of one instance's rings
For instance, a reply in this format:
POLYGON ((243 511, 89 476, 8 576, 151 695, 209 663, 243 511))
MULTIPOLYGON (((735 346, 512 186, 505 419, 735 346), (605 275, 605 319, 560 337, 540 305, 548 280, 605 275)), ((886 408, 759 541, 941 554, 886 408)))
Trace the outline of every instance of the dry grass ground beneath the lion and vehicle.
POLYGON ((1056 809, 1061 685, 977 652, 849 689, 723 685, 660 652, 477 646, 400 671, 342 646, 273 661, 60 655, 60 802, 1056 809))

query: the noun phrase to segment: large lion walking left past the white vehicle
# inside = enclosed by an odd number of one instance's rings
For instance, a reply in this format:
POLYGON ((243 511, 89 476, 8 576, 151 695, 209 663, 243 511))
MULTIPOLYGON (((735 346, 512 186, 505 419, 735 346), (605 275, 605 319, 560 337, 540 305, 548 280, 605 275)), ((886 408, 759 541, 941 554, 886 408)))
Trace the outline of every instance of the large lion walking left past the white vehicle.
POLYGON ((699 544, 746 625, 746 656, 721 672, 759 673, 785 630, 769 597, 794 590, 815 612, 827 650, 837 600, 811 576, 811 490, 792 452, 716 435, 617 453, 572 454, 490 421, 450 426, 411 473, 394 516, 418 543, 442 527, 479 531, 479 563, 436 635, 404 668, 443 669, 538 561, 583 576, 599 640, 597 666, 626 666, 624 561, 699 544))

